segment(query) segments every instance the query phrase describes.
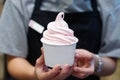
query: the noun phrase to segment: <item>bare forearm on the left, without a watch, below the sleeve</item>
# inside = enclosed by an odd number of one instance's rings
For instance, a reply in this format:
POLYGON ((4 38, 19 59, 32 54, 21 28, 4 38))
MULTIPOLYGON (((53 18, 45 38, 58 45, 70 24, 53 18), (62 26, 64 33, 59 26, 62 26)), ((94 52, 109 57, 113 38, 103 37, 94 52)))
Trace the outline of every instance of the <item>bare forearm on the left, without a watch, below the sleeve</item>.
POLYGON ((36 80, 34 66, 26 59, 9 56, 7 57, 8 72, 19 80, 36 80))

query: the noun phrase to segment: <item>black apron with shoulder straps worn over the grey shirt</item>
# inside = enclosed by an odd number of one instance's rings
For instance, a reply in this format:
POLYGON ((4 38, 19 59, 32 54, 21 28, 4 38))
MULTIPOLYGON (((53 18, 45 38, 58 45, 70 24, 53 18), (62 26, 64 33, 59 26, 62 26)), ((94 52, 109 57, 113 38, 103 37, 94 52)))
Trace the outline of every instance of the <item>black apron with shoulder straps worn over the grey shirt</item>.
MULTIPOLYGON (((31 19, 44 26, 54 21, 59 12, 41 11, 42 0, 36 0, 34 11, 31 19)), ((69 28, 74 31, 74 35, 79 39, 76 48, 83 48, 93 53, 98 53, 101 41, 102 22, 97 10, 96 0, 91 0, 93 11, 65 13, 64 20, 68 23, 69 28)), ((28 56, 27 60, 35 65, 36 59, 41 55, 40 48, 42 43, 40 39, 42 33, 38 33, 29 27, 28 29, 28 56)), ((65 80, 99 80, 99 77, 90 75, 88 78, 79 79, 69 76, 65 80)))

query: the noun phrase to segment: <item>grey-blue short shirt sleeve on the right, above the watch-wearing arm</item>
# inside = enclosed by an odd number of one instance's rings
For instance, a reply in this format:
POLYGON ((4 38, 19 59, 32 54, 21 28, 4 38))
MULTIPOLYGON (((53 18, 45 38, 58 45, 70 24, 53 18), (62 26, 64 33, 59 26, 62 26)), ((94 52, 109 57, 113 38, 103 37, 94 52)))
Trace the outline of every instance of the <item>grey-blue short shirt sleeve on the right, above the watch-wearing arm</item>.
POLYGON ((103 21, 102 42, 99 54, 120 58, 120 1, 98 0, 103 21))

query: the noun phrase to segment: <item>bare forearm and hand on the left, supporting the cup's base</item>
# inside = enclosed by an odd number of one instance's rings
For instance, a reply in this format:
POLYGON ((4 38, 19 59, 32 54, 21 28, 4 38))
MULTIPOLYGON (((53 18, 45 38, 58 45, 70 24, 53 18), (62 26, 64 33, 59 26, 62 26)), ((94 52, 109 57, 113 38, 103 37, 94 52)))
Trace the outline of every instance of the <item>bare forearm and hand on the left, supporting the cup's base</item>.
POLYGON ((7 64, 9 73, 17 80, 64 80, 73 72, 68 64, 65 64, 62 70, 59 64, 48 69, 43 55, 36 60, 35 67, 26 59, 13 56, 7 57, 7 64))

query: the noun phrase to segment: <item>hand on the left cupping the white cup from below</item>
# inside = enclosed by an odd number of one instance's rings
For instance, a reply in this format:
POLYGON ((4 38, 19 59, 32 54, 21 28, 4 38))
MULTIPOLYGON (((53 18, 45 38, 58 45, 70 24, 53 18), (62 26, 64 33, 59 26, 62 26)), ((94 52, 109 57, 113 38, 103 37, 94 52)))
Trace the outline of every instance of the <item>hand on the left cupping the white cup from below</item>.
POLYGON ((43 54, 37 59, 35 65, 35 74, 38 80, 64 80, 72 73, 72 68, 66 64, 61 69, 59 64, 52 69, 47 68, 44 62, 43 54))

